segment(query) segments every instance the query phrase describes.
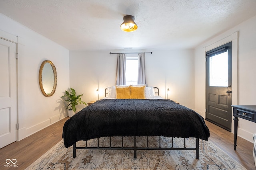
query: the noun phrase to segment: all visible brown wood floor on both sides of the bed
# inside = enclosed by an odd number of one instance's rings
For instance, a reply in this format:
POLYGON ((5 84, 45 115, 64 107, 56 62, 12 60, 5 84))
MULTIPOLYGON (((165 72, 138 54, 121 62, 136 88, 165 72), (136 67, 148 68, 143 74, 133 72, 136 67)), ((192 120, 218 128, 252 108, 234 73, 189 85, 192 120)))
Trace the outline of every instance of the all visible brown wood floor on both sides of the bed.
MULTIPOLYGON (((30 135, 29 137, 14 142, 0 149, 0 169, 2 170, 23 170, 47 152, 50 148, 62 140, 62 127, 68 119, 64 118, 45 129, 30 135), (6 159, 16 159, 18 168, 4 167, 6 159)), ((234 150, 234 135, 208 121, 206 125, 210 129, 209 141, 226 152, 234 160, 242 164, 248 170, 255 170, 252 157, 253 143, 240 137, 237 141, 237 149, 234 150)))

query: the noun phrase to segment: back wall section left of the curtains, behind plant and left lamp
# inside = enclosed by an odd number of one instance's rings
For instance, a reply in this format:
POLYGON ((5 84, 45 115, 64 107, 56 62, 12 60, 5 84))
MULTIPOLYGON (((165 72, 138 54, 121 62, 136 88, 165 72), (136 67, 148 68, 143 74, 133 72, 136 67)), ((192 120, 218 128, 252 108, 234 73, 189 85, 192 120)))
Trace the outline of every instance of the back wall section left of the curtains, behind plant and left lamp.
MULTIPOLYGON (((106 51, 70 51, 70 87, 77 94, 84 94, 86 103, 104 98, 106 86, 115 84, 116 56, 106 51)), ((80 110, 84 105, 78 105, 80 110)))

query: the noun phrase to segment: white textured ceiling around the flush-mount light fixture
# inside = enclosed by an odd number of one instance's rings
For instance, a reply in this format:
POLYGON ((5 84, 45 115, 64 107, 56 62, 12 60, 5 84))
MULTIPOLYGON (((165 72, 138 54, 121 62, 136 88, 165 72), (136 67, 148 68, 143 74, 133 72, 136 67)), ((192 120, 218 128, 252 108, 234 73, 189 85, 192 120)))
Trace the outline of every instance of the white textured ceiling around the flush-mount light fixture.
POLYGON ((70 50, 193 49, 256 15, 256 0, 0 0, 0 13, 70 50), (120 29, 125 15, 138 29, 120 29))

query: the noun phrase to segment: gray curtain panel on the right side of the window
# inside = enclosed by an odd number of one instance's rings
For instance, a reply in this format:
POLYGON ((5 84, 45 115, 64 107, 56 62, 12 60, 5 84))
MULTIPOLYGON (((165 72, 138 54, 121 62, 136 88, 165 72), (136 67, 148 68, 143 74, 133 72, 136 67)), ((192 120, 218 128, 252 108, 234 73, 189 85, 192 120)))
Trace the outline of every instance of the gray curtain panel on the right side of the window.
POLYGON ((145 54, 138 54, 138 84, 146 84, 145 54))

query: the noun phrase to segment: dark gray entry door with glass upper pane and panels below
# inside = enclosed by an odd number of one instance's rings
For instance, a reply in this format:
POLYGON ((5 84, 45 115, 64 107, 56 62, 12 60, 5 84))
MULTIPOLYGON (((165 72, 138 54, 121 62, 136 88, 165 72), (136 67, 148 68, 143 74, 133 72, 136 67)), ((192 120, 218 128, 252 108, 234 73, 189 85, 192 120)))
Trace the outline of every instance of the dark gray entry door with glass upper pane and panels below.
POLYGON ((231 131, 232 42, 206 52, 206 120, 231 131))

